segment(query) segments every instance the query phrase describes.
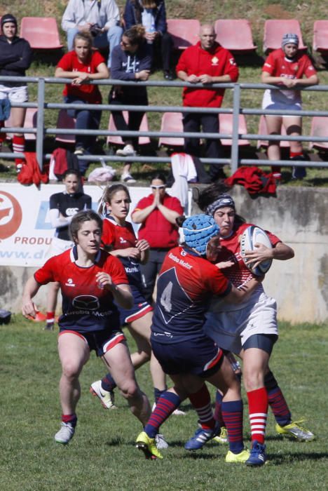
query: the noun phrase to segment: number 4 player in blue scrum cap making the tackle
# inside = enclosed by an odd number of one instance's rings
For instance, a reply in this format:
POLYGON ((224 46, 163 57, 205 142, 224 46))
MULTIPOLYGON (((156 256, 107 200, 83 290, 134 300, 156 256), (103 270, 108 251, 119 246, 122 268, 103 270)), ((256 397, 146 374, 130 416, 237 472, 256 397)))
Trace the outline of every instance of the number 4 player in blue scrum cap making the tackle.
POLYGON ((200 417, 197 438, 210 440, 217 428, 212 415, 207 380, 224 391, 223 412, 229 435, 230 450, 226 462, 245 462, 249 452, 242 443, 242 401, 240 384, 221 349, 203 332, 205 311, 210 297, 224 302, 240 302, 257 288, 252 278, 244 291, 237 290, 210 261, 212 241, 219 227, 207 215, 195 215, 182 224, 185 245, 166 255, 157 283, 156 308, 151 326, 151 347, 174 386, 158 399, 136 446, 147 458, 162 458, 155 445, 160 425, 185 398, 189 397, 200 417), (186 389, 188 388, 188 389, 186 389))

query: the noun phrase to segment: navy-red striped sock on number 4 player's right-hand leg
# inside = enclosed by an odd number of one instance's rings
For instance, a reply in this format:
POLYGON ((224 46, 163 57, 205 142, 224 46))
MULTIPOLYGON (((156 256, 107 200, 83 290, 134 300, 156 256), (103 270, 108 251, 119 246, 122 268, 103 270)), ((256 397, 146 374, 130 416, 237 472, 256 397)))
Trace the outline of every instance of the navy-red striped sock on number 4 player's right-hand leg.
POLYGON ((244 450, 242 440, 242 401, 222 401, 222 417, 228 431, 229 450, 239 454, 244 450))

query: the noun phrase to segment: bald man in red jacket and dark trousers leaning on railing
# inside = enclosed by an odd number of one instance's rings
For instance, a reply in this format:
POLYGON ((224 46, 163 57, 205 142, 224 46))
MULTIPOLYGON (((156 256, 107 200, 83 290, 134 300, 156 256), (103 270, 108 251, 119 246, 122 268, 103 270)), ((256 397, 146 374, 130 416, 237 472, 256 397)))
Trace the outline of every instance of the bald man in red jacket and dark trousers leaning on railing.
MULTIPOLYGON (((215 41, 214 27, 209 24, 200 27, 200 41, 186 48, 177 64, 177 76, 189 83, 203 83, 204 88, 185 87, 184 107, 221 107, 224 98, 223 88, 211 88, 212 83, 235 82, 238 80, 238 67, 233 55, 215 41)), ((205 133, 219 133, 217 114, 184 113, 184 131, 198 132, 200 126, 205 133)), ((198 138, 185 138, 186 154, 200 156, 198 138)), ((207 139, 205 153, 209 159, 219 159, 222 155, 221 142, 207 139)), ((212 181, 224 176, 222 166, 210 166, 212 181)))

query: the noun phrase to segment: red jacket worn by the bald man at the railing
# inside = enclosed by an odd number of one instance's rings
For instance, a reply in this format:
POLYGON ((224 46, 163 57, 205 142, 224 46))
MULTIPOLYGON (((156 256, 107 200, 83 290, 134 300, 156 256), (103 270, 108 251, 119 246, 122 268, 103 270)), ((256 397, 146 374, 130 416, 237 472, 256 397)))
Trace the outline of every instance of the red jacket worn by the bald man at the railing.
MULTIPOLYGON (((200 45, 189 46, 182 53, 176 67, 176 71, 186 72, 188 75, 230 75, 231 81, 238 80, 238 67, 233 55, 214 43, 210 51, 206 51, 200 45)), ((190 88, 185 87, 183 91, 184 106, 189 107, 221 107, 224 97, 224 88, 190 88)))

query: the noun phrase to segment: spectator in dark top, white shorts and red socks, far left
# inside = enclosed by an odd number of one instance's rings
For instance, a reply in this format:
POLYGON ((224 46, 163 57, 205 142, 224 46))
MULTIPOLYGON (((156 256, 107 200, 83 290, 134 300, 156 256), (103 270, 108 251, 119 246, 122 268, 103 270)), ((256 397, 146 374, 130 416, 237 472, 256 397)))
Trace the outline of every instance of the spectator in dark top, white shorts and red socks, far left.
MULTIPOLYGON (((25 70, 32 62, 32 49, 26 39, 17 36, 17 20, 6 13, 1 18, 0 36, 0 75, 1 76, 25 76, 25 70)), ((27 102, 29 94, 26 82, 1 82, 0 100, 8 99, 19 104, 27 102)), ((15 128, 22 128, 25 121, 26 107, 11 108, 11 122, 15 128)), ((4 121, 0 121, 0 128, 4 127, 4 121)), ((6 133, 0 133, 0 145, 6 139, 6 133)), ((13 135, 13 152, 20 154, 25 151, 25 137, 23 133, 13 135)), ((24 159, 15 159, 16 170, 20 172, 24 159)))

